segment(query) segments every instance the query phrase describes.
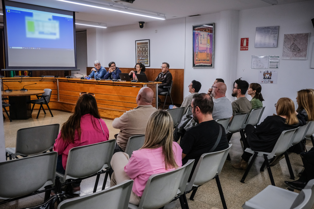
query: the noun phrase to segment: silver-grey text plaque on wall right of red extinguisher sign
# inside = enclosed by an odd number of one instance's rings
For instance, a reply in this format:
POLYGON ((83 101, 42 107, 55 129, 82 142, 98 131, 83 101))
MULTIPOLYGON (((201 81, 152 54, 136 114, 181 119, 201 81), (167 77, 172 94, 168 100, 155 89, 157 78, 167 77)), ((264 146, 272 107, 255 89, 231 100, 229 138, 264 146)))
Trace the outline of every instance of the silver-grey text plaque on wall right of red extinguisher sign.
POLYGON ((257 27, 255 48, 277 47, 279 26, 257 27))

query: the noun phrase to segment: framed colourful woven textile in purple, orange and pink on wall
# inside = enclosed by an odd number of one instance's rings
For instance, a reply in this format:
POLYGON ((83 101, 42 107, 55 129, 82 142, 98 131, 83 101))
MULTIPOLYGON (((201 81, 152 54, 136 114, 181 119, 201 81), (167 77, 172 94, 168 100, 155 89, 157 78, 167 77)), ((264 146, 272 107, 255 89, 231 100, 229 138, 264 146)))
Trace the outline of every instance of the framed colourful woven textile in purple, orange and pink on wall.
POLYGON ((214 67, 215 24, 193 25, 193 62, 192 67, 214 67))

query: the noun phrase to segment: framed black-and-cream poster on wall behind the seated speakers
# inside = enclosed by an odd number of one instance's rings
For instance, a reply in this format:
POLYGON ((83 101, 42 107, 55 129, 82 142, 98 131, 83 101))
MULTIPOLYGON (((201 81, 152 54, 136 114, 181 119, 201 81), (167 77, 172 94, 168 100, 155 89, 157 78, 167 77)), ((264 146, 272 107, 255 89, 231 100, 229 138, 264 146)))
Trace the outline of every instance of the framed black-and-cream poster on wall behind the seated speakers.
POLYGON ((149 39, 135 41, 136 63, 142 63, 146 67, 150 67, 149 58, 149 39))

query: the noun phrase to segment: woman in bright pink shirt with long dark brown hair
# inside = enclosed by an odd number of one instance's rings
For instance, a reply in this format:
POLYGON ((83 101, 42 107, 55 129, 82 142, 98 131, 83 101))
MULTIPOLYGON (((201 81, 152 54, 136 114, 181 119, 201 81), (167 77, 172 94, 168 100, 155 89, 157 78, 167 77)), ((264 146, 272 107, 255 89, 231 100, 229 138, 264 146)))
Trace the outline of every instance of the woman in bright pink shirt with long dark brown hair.
MULTIPOLYGON (((58 152, 57 172, 64 174, 70 149, 107 141, 109 130, 100 119, 96 99, 82 94, 76 102, 73 115, 63 123, 53 147, 58 152)), ((80 182, 73 183, 73 193, 80 194, 80 182)))

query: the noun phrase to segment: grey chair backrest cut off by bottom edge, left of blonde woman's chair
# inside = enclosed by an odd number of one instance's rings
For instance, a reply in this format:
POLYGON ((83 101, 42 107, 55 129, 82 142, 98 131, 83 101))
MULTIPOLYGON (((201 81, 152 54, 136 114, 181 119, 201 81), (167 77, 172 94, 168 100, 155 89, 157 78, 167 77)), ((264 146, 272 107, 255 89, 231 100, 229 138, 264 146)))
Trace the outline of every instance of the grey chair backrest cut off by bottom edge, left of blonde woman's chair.
POLYGON ((110 187, 106 190, 75 197, 62 201, 58 209, 78 209, 78 208, 110 208, 127 209, 133 180, 123 181, 121 184, 110 187))

